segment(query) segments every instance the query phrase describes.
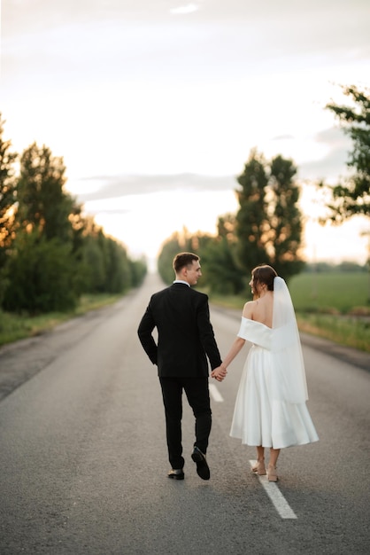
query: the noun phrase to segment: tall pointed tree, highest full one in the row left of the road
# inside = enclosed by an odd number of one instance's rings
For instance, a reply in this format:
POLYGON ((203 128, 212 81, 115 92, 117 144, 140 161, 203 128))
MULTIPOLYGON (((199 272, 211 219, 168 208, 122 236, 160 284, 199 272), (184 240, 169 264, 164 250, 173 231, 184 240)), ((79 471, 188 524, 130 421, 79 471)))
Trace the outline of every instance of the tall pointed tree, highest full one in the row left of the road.
POLYGON ((4 308, 32 313, 68 310, 81 291, 81 262, 73 252, 79 207, 63 187, 63 160, 31 145, 20 158, 16 238, 9 262, 4 308))

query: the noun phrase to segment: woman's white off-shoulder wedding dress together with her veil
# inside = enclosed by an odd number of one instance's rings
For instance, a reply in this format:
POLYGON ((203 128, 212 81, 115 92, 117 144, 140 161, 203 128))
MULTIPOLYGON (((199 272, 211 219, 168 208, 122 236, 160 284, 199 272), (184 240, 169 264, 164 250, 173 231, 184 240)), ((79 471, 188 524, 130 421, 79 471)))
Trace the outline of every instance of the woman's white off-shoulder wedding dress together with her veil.
POLYGON ((242 317, 251 341, 236 395, 231 437, 281 449, 319 440, 306 407, 307 387, 296 316, 285 281, 274 278, 273 327, 242 317))

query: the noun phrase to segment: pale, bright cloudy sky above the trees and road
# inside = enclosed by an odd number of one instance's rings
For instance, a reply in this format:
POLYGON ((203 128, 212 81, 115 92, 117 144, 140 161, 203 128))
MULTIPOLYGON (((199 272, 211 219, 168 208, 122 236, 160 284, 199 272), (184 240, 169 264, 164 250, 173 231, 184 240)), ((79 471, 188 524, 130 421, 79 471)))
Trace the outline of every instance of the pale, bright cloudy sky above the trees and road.
MULTIPOLYGON (((345 173, 324 106, 370 86, 368 0, 2 0, 5 137, 63 156, 67 189, 132 254, 235 211, 251 148, 299 178, 345 173)), ((304 187, 306 255, 366 260, 363 222, 319 229, 304 187)))

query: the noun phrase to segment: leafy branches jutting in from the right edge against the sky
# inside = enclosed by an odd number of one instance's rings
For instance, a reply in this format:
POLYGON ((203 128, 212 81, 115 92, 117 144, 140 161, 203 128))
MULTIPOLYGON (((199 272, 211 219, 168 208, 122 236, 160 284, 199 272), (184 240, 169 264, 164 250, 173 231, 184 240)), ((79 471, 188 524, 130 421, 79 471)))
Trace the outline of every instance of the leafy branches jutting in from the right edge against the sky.
POLYGON ((353 145, 347 162, 351 176, 335 185, 328 204, 334 223, 370 212, 370 90, 359 90, 355 86, 342 89, 350 98, 351 106, 338 106, 334 102, 326 106, 335 113, 353 145))

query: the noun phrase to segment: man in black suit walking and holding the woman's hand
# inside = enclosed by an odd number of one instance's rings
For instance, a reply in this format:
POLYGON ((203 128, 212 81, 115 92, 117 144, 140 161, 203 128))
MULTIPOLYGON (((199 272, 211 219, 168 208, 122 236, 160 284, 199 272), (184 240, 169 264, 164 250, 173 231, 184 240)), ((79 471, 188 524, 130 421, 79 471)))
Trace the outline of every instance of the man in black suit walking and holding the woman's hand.
POLYGON ((212 416, 208 389, 208 362, 212 370, 221 364, 214 339, 208 297, 191 289, 202 275, 199 256, 180 253, 173 259, 175 280, 150 299, 138 335, 150 361, 158 366, 166 413, 166 438, 173 480, 184 479, 181 444, 182 390, 196 418, 192 459, 203 480, 210 479, 205 453, 212 416), (158 343, 152 332, 157 327, 158 343))

